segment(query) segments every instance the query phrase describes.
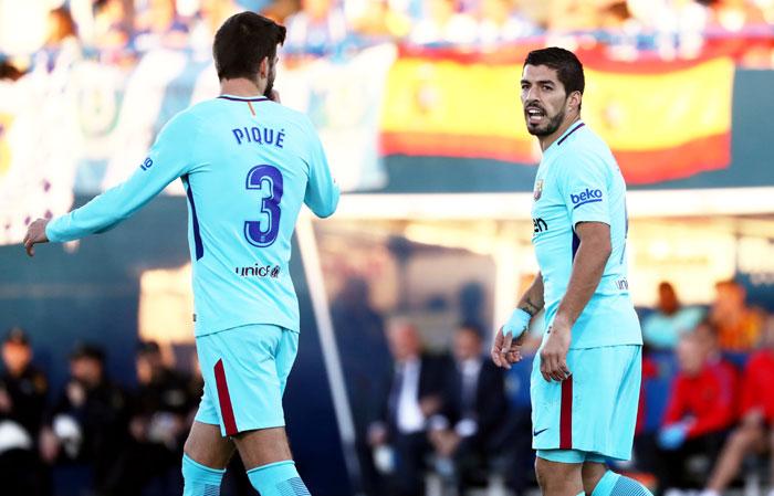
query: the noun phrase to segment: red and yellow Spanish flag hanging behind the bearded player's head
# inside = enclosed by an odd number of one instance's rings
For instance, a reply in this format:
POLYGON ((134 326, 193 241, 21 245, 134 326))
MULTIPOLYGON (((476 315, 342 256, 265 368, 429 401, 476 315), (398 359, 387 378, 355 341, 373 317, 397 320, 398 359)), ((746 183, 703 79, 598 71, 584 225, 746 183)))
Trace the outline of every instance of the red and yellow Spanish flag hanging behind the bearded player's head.
MULTIPOLYGON (((520 102, 525 55, 404 53, 388 75, 383 154, 540 161, 520 102)), ((579 59, 582 116, 610 146, 629 183, 729 166, 731 57, 618 63, 580 52, 579 59)))

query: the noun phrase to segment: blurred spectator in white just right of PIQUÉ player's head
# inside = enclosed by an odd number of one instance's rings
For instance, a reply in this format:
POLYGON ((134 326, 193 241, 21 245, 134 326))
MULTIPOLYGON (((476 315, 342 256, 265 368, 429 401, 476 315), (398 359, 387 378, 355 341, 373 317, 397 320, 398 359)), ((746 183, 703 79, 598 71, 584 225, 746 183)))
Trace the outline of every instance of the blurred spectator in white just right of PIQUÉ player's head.
POLYGON ((301 10, 286 20, 287 53, 332 55, 347 38, 347 22, 336 0, 301 0, 301 10))

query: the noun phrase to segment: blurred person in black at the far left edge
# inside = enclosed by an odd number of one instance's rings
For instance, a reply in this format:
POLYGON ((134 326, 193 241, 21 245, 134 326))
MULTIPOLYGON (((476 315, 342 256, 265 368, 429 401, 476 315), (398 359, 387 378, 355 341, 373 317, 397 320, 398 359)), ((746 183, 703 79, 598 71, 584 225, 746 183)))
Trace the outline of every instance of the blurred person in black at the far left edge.
POLYGON ((12 328, 2 344, 4 373, 0 378, 0 419, 19 423, 32 440, 43 422, 49 382, 32 366, 32 347, 23 329, 12 328))

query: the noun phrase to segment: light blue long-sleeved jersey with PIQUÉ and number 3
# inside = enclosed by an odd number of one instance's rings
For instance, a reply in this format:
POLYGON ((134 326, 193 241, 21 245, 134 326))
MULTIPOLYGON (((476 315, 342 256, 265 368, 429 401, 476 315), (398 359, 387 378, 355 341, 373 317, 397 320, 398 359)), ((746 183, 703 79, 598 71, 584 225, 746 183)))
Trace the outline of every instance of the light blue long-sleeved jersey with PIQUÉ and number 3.
POLYGON ((295 221, 302 203, 331 215, 339 192, 308 118, 264 97, 221 95, 176 115, 126 182, 52 220, 46 235, 107 231, 177 178, 188 196, 196 335, 250 324, 297 331, 295 221))

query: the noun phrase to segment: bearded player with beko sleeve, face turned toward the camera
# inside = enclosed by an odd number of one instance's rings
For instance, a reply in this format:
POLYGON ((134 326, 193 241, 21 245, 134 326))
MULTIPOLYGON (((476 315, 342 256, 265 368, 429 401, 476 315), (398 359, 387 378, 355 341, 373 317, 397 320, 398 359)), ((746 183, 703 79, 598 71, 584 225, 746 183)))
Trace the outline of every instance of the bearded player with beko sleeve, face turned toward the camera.
POLYGON ((642 338, 626 278, 626 184, 610 149, 580 120, 584 85, 572 52, 527 55, 521 99, 543 150, 532 207, 541 272, 498 331, 492 359, 519 361, 526 326, 545 307, 530 390, 543 494, 649 495, 606 466, 631 457, 642 338))

